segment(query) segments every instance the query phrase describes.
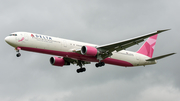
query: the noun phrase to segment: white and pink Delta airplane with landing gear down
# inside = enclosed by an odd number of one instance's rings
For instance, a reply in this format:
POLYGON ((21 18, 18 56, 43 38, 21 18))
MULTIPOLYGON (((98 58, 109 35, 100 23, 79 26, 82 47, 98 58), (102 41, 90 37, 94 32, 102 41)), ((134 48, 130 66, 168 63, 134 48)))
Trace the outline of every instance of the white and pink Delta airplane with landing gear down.
POLYGON ((158 30, 135 38, 114 42, 105 45, 95 45, 58 37, 35 34, 30 32, 14 32, 5 38, 5 41, 15 48, 17 57, 20 50, 55 55, 50 58, 54 66, 76 64, 80 68, 77 73, 85 72, 85 64, 97 62, 96 67, 112 64, 123 67, 145 66, 156 64, 157 60, 175 53, 152 57, 157 36, 170 29, 158 30), (148 38, 137 52, 127 51, 133 45, 138 45, 148 38))

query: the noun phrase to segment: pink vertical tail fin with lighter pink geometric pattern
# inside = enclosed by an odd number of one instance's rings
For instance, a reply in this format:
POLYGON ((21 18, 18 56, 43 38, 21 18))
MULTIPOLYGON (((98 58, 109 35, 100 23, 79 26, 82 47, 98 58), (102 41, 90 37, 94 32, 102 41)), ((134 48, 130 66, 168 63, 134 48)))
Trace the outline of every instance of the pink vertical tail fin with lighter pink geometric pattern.
POLYGON ((156 34, 154 36, 149 37, 147 41, 142 45, 142 47, 137 51, 137 53, 140 53, 140 54, 143 54, 152 58, 157 36, 158 35, 156 34))

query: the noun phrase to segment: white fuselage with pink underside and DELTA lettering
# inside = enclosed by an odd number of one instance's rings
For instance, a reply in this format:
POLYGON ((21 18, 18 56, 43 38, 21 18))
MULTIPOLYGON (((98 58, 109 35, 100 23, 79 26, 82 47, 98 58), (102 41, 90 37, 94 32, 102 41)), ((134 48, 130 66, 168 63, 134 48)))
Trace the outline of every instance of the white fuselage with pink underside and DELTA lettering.
MULTIPOLYGON (((98 45, 28 32, 15 32, 12 34, 16 34, 17 36, 6 37, 6 42, 15 48, 19 47, 21 50, 57 55, 88 62, 98 62, 95 57, 74 52, 81 49, 84 45, 93 47, 97 47, 98 45)), ((125 67, 144 66, 156 63, 156 61, 146 61, 150 59, 150 57, 136 52, 122 50, 119 52, 114 51, 112 54, 111 57, 102 61, 125 67)))

